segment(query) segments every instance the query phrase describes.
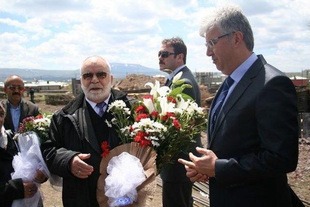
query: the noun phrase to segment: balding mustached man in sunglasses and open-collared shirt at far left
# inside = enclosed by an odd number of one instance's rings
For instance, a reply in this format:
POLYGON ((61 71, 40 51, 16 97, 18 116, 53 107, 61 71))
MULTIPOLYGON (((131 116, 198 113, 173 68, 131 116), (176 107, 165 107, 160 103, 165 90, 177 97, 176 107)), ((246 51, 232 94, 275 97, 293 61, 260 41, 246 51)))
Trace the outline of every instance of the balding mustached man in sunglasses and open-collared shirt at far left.
POLYGON ((39 114, 37 105, 23 99, 25 87, 21 77, 12 75, 6 78, 3 91, 8 96, 7 100, 3 102, 3 106, 7 111, 3 125, 5 129, 17 131, 19 123, 24 118, 39 114))

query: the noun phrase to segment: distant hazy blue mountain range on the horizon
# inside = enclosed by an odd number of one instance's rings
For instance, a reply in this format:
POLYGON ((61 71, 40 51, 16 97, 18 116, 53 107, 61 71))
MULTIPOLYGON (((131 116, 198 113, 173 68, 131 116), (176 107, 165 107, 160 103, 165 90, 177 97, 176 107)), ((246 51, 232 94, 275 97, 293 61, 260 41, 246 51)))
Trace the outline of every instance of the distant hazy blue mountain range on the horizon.
MULTIPOLYGON (((145 67, 140 64, 111 63, 112 74, 115 78, 124 78, 127 74, 144 74, 148 76, 166 75, 159 69, 145 67)), ((24 80, 54 80, 66 81, 72 78, 79 79, 77 70, 40 70, 27 68, 0 68, 0 81, 3 82, 9 75, 19 75, 24 80)))

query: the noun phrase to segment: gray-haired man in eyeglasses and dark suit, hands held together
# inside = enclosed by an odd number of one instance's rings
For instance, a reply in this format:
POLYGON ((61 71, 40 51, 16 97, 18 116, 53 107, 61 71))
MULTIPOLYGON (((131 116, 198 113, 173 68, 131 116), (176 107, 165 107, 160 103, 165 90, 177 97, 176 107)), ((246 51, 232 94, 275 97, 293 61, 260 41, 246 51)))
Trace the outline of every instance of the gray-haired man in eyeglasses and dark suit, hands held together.
POLYGON ((296 92, 284 73, 253 52, 240 8, 204 21, 207 56, 228 75, 209 112, 208 149, 189 155, 192 181, 209 179, 211 207, 291 207, 286 174, 298 160, 296 92))

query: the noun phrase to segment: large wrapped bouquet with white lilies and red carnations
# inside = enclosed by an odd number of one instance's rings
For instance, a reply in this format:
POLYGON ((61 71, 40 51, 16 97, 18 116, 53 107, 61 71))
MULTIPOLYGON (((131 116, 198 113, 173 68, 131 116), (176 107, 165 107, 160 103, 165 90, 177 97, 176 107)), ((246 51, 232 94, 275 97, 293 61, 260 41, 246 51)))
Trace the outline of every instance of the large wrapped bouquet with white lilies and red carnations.
POLYGON ((134 201, 137 202, 134 206, 148 206, 155 191, 156 174, 164 164, 177 157, 181 148, 191 147, 195 138, 206 129, 206 113, 190 96, 182 93, 191 86, 184 84, 181 76, 182 72, 173 78, 171 89, 160 87, 157 80, 155 85, 146 83, 145 86, 152 88, 150 95, 139 98, 132 109, 122 100, 109 104, 108 112, 114 117, 105 122, 108 127, 115 128, 123 145, 109 151, 107 144, 102 144, 105 158, 100 164, 97 188, 100 207, 106 205, 107 197, 109 206, 124 206, 134 201), (122 151, 139 158, 142 166, 135 167, 136 159, 120 154, 122 151), (120 161, 124 157, 126 161, 120 161))

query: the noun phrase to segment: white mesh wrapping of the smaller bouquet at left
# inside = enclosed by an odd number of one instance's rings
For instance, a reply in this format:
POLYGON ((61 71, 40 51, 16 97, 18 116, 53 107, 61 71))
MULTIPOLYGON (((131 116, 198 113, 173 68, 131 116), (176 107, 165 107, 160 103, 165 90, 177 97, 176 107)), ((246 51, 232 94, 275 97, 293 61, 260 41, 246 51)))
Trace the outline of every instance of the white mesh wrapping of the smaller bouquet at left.
MULTIPOLYGON (((44 162, 40 150, 40 141, 35 132, 26 132, 18 135, 17 138, 19 152, 14 156, 12 165, 15 172, 12 173, 12 179, 22 178, 23 181, 32 181, 35 178, 36 170, 41 170, 47 177, 49 171, 44 162)), ((34 182, 38 187, 39 183, 34 182)), ((40 191, 37 191, 30 198, 14 200, 12 207, 38 207, 40 201, 40 191)))

